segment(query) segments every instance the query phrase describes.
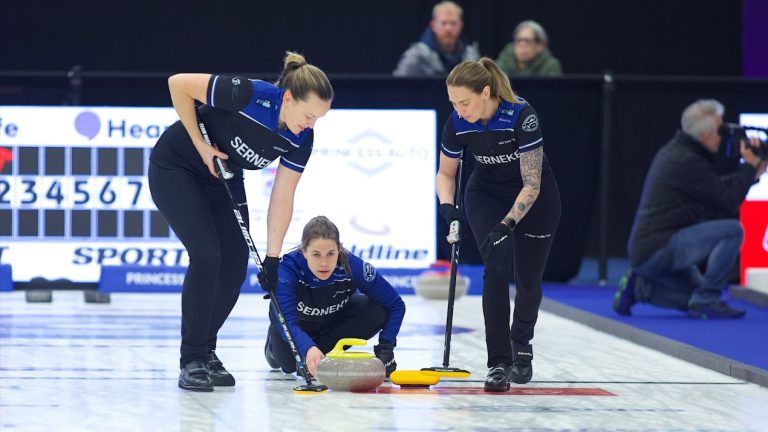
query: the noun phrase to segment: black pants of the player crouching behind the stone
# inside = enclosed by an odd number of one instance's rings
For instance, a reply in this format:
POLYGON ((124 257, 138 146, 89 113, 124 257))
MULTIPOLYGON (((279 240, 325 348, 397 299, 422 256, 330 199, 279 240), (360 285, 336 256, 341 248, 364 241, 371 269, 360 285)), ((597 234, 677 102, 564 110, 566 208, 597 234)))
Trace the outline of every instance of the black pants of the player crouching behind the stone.
MULTIPOLYGON (((353 295, 344 306, 344 309, 338 312, 332 322, 314 323, 309 321, 299 321, 301 329, 315 342, 317 348, 327 354, 336 343, 344 338, 356 338, 368 340, 380 332, 387 322, 387 308, 372 302, 364 295, 353 295)), ((280 334, 280 324, 277 322, 274 313, 269 314, 269 343, 272 346, 272 354, 275 360, 280 363, 280 369, 285 373, 296 372, 296 360, 291 352, 288 342, 283 340, 280 334)), ((300 353, 302 360, 307 353, 300 353)))

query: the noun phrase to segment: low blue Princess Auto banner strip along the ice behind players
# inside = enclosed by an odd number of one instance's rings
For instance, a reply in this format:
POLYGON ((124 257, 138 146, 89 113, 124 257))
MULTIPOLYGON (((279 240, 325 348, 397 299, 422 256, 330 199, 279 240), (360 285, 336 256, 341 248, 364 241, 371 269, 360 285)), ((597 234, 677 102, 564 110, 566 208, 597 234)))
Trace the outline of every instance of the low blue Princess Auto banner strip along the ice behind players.
MULTIPOLYGON (((379 273, 400 294, 413 294, 416 279, 424 272, 434 269, 377 269, 379 273)), ((184 266, 104 266, 99 278, 102 292, 181 292, 184 283, 184 266)), ((481 294, 483 287, 482 266, 459 266, 459 274, 470 279, 468 294, 481 294)), ((445 273, 446 278, 448 274, 445 273)), ((263 292, 257 278, 255 266, 248 267, 243 293, 263 292)))

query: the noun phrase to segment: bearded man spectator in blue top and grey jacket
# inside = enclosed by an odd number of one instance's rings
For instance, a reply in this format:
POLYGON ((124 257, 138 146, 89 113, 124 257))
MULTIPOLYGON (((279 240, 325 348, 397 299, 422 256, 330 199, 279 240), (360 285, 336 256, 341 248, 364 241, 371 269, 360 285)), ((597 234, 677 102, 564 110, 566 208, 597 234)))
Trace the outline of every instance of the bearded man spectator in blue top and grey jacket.
POLYGON ((461 37, 463 10, 452 1, 432 8, 432 21, 421 39, 412 44, 400 58, 395 76, 447 76, 448 71, 465 60, 480 59, 477 43, 461 37))

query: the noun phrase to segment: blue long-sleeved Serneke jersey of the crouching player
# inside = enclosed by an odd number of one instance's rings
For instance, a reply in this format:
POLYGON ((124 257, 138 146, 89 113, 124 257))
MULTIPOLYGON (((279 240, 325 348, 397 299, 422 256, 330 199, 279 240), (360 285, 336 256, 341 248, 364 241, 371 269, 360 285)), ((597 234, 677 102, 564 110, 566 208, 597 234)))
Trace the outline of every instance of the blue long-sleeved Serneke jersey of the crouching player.
POLYGON ((327 280, 320 280, 299 250, 285 254, 280 261, 276 299, 301 354, 306 354, 315 343, 299 322, 334 321, 357 290, 387 308, 387 322, 379 339, 397 343, 405 315, 405 303, 400 295, 373 265, 357 256, 349 254, 349 267, 351 274, 338 265, 327 280))

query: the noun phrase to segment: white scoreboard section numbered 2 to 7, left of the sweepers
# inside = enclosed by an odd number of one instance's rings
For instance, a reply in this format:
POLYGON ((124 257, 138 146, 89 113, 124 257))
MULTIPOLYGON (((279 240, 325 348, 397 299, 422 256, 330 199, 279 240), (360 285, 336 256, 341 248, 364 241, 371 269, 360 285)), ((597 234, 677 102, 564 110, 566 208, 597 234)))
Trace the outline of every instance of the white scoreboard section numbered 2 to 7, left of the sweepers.
POLYGON ((182 262, 147 185, 168 108, 0 107, 0 259, 16 281, 182 262), (132 246, 132 247, 128 247, 132 246))

